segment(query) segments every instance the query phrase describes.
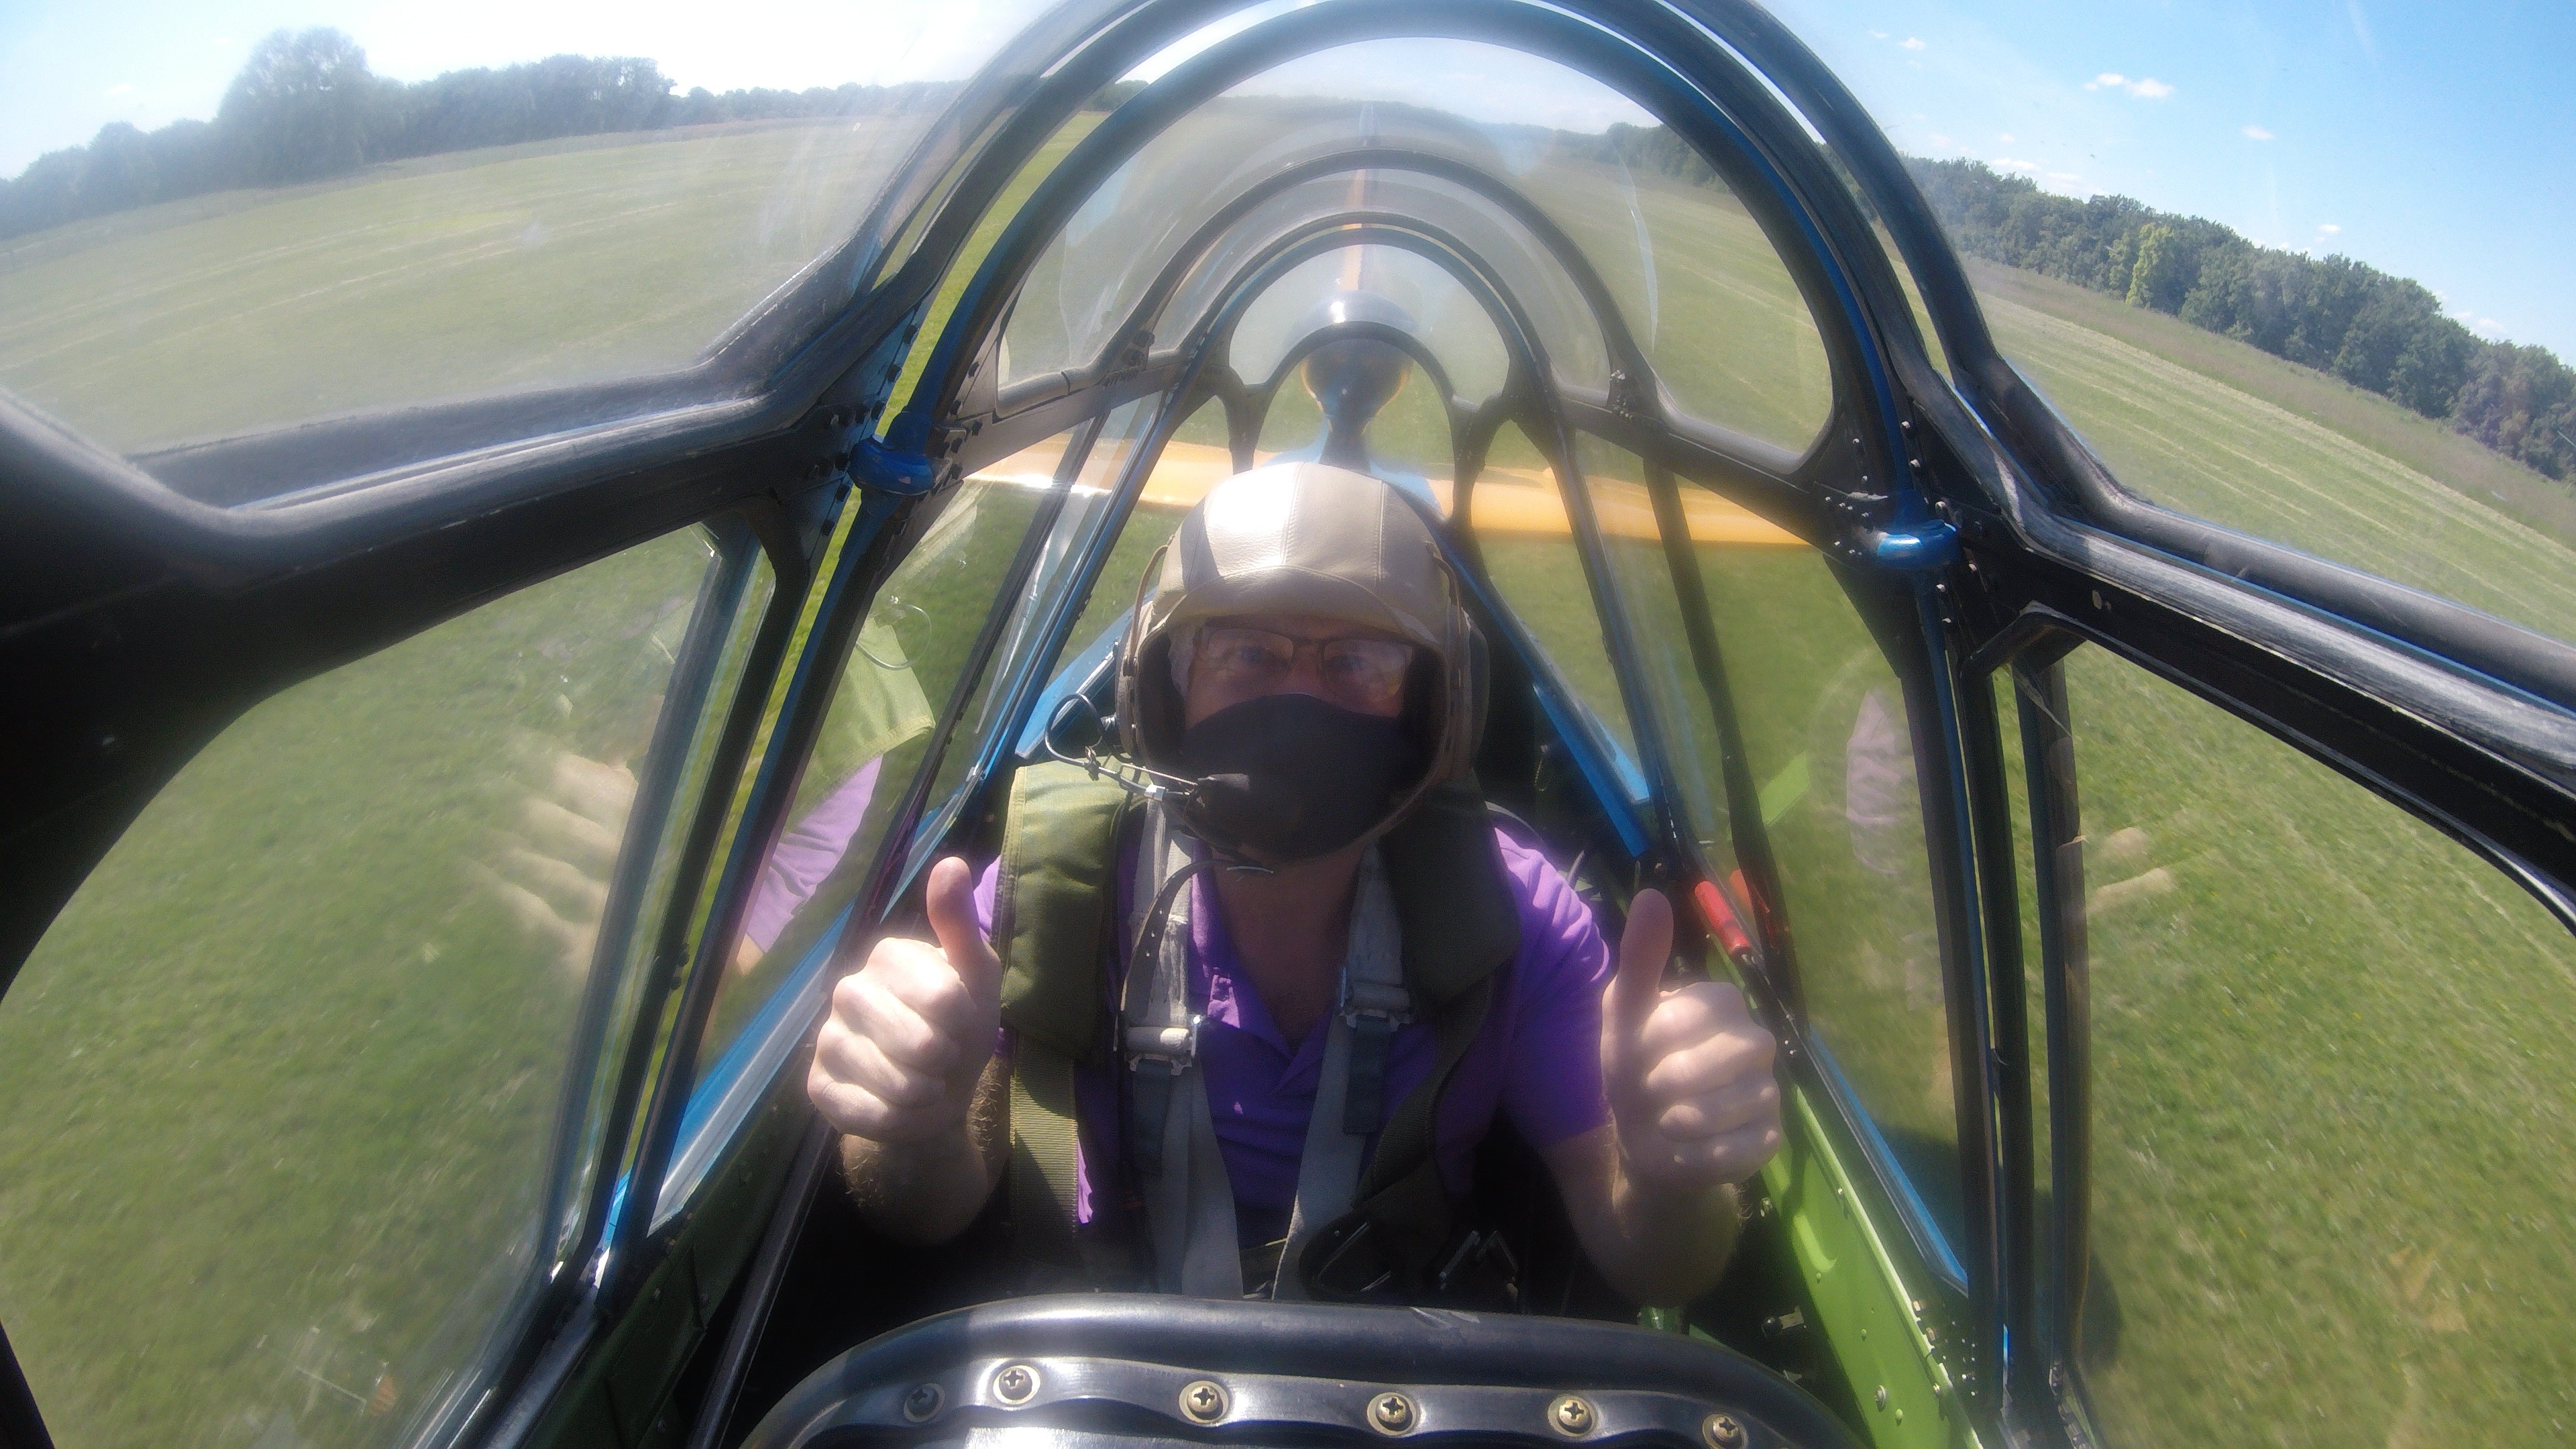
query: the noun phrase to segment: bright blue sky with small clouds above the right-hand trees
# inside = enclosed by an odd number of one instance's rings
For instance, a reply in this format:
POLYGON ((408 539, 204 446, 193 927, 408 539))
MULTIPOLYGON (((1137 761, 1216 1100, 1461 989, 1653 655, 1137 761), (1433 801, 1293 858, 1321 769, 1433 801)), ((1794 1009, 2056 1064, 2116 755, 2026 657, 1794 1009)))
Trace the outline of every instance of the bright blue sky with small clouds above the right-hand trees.
POLYGON ((2576 361, 2568 0, 1772 0, 1914 155, 2432 286, 2576 361))

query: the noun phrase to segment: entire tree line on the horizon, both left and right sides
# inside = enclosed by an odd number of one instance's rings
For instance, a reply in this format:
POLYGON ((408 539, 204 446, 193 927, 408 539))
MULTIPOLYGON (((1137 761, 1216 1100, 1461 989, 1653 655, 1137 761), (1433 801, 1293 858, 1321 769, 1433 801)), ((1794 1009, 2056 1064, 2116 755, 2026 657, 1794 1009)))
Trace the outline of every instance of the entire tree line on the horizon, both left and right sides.
MULTIPOLYGON (((1110 108, 1133 83, 1103 90, 1110 108)), ((935 103, 945 83, 677 93, 636 57, 559 54, 433 80, 384 80, 332 28, 276 31, 252 46, 211 121, 142 131, 116 121, 85 147, 0 180, 0 237, 155 201, 291 186, 438 152, 708 121, 876 116, 935 103)), ((1708 160, 1664 126, 1561 137, 1636 170, 1718 186, 1708 160)), ((2344 255, 2259 248, 2218 222, 2130 201, 2050 196, 1973 160, 1909 160, 1965 255, 2169 312, 2391 397, 2548 477, 2576 477, 2576 371, 2548 348, 2488 343, 2442 315, 2421 284, 2344 255)))

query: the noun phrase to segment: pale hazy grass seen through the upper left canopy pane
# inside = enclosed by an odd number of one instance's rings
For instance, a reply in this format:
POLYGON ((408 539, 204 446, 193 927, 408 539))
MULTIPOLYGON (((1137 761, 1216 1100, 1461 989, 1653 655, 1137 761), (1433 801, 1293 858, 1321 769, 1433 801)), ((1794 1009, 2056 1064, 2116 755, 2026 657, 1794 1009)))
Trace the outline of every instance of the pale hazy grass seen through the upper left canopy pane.
POLYGON ((510 147, 106 229, 0 273, 0 387, 144 451, 685 366, 848 237, 904 144, 835 121, 510 147))

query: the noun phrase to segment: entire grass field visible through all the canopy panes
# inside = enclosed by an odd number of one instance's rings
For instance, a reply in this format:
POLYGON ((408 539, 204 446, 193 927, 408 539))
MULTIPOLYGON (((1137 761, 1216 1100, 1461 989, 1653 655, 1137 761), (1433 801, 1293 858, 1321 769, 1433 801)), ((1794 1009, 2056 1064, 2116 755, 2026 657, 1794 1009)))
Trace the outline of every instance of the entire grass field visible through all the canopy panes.
MULTIPOLYGON (((835 237, 886 150, 781 126, 451 157, 18 248, 0 387, 147 449, 672 366, 835 237)), ((1631 217, 1610 180, 1561 186, 1584 242, 1628 258, 1605 271, 1633 299, 1643 219, 1674 394, 1803 443, 1821 358, 1744 211, 1641 178, 1631 217)), ((2223 338, 1978 278, 2004 351, 2130 487, 2576 634, 2545 480, 2223 338)), ((1378 443, 1437 474, 1422 392, 1378 443)), ((1314 425, 1291 389, 1262 446, 1314 425)), ((1507 441, 1494 462, 1535 454, 1507 441)), ((933 709, 1025 508, 984 495, 899 588, 920 614, 878 606, 933 709)), ((1118 541, 1077 642, 1162 526, 1118 541)), ((1486 554, 1623 732, 1571 547, 1486 554)), ((62 1444, 374 1444, 471 1346, 538 1248, 572 1003, 559 946, 477 871, 526 830, 526 740, 634 748, 701 567, 693 539, 649 544, 270 701, 39 946, 0 1003, 0 1323, 62 1444)), ((1705 549, 1703 567, 1819 1031, 1901 1147, 1937 1147, 1950 1062, 1893 676, 1816 554, 1705 549)), ((1687 730, 1659 559, 1623 547, 1620 578, 1669 676, 1651 694, 1687 730)), ((2566 933, 2249 727, 2097 655, 2069 676, 2099 1078, 2087 1372, 2110 1439, 2566 1441, 2566 933)), ((1703 773, 1705 735, 1687 735, 1703 773)), ((822 758, 804 797, 858 763, 822 758)), ((765 980, 729 987, 719 1029, 765 980)))

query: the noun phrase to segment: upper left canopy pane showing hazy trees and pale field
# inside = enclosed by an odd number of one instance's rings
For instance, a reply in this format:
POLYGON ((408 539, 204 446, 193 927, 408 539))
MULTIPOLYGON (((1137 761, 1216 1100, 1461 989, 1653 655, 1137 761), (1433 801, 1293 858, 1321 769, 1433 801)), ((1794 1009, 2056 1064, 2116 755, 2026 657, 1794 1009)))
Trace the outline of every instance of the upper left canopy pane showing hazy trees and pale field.
POLYGON ((18 10, 0 389, 144 467, 425 402, 724 392, 762 327, 848 299, 878 191, 1036 10, 18 10))

